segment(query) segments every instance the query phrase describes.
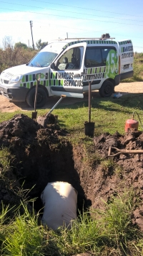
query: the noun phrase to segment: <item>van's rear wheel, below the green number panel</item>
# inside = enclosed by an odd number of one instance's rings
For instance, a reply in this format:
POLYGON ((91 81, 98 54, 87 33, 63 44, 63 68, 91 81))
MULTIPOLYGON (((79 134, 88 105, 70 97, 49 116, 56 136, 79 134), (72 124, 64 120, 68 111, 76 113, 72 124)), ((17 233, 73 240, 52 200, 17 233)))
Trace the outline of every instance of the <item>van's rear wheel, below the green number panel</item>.
POLYGON ((105 81, 102 84, 102 87, 99 88, 99 94, 102 97, 110 97, 112 96, 112 93, 114 93, 114 85, 110 81, 105 81))

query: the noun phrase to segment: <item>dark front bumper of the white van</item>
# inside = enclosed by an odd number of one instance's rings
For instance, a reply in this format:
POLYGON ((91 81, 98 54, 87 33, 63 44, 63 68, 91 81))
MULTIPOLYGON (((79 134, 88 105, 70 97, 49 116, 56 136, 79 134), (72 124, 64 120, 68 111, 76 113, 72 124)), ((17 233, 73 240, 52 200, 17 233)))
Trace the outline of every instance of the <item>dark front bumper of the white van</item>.
POLYGON ((12 86, 8 88, 7 86, 1 86, 0 84, 0 93, 11 101, 25 101, 28 91, 29 88, 12 86))

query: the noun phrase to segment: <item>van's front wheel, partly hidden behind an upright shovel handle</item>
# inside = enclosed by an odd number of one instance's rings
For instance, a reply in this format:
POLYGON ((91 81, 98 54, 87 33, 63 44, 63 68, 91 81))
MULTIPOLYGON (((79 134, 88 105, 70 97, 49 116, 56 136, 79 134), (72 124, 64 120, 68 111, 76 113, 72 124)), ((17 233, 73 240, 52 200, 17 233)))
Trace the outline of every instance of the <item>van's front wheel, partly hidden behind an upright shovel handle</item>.
MULTIPOLYGON (((28 95, 26 96, 26 103, 34 108, 34 101, 35 101, 35 91, 36 88, 32 88, 31 91, 29 91, 28 95)), ((46 94, 46 91, 42 88, 38 88, 37 93, 37 99, 36 99, 36 108, 41 108, 46 104, 46 101, 48 100, 48 96, 46 94)))

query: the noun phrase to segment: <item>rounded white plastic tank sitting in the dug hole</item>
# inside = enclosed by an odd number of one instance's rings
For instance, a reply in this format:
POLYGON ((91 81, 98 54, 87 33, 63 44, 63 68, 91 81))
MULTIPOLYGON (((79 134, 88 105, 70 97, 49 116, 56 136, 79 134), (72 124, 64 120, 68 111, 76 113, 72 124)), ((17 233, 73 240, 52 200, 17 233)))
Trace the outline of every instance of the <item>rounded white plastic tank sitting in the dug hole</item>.
POLYGON ((42 224, 51 229, 71 228, 71 221, 77 219, 77 191, 71 184, 56 181, 48 183, 41 193, 44 204, 42 224))

